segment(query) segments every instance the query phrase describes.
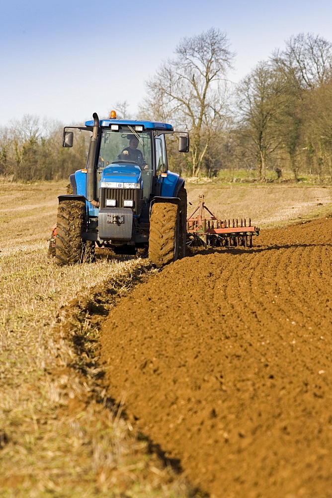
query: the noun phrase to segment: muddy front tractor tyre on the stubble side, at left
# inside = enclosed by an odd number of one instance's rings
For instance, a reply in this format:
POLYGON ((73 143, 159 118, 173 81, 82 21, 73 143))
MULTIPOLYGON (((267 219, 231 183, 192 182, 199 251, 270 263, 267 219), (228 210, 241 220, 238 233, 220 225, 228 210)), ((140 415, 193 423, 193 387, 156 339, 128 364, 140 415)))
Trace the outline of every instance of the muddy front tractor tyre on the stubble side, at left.
POLYGON ((80 263, 84 244, 82 231, 85 220, 85 203, 65 200, 58 206, 56 263, 59 265, 80 263))

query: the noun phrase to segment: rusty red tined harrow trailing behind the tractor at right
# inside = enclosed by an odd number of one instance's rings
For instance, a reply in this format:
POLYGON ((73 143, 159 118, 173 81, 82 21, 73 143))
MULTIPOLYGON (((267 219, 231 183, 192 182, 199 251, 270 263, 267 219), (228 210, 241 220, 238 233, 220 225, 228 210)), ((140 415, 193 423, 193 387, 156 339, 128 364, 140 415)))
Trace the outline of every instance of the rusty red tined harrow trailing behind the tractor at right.
POLYGON ((252 247, 252 236, 259 235, 259 228, 250 219, 219 220, 205 206, 204 195, 198 198, 198 207, 187 219, 189 245, 252 247))

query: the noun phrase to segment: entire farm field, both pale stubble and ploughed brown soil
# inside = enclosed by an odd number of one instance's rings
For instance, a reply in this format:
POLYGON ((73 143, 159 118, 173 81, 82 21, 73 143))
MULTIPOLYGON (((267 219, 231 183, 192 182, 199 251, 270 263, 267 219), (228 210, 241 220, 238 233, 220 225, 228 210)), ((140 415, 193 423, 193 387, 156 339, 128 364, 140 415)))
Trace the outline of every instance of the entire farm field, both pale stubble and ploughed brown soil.
POLYGON ((265 230, 157 271, 56 267, 65 183, 0 185, 1 496, 331 497, 332 188, 189 184, 265 230))

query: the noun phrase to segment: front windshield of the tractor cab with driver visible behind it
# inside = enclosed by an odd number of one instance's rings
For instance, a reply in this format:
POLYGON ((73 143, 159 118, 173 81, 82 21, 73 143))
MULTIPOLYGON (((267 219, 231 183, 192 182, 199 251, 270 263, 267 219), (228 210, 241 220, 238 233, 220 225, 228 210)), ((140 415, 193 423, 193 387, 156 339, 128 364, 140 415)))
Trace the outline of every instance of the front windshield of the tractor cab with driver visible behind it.
POLYGON ((103 129, 98 168, 112 162, 125 161, 138 164, 142 170, 152 169, 151 132, 133 132, 122 126, 119 131, 103 129))

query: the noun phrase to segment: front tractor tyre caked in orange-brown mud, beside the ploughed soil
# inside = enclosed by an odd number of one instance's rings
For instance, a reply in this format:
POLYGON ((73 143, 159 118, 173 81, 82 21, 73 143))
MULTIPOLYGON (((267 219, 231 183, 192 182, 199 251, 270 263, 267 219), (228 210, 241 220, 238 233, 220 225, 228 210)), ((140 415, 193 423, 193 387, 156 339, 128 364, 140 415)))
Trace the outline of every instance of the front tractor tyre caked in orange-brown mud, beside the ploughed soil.
POLYGON ((161 268, 178 256, 180 213, 177 204, 156 202, 150 218, 149 259, 161 268))

